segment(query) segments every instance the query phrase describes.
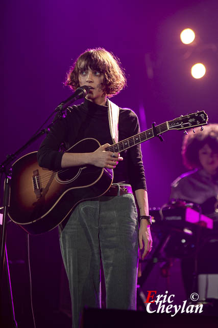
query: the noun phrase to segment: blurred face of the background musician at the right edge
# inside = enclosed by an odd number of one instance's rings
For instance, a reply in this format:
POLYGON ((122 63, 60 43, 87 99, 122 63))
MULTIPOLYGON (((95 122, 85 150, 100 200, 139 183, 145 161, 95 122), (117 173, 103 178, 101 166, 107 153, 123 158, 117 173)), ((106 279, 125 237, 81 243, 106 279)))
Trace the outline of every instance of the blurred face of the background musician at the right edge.
POLYGON ((206 144, 199 150, 199 160, 205 171, 209 174, 216 174, 218 169, 218 152, 214 153, 206 144))

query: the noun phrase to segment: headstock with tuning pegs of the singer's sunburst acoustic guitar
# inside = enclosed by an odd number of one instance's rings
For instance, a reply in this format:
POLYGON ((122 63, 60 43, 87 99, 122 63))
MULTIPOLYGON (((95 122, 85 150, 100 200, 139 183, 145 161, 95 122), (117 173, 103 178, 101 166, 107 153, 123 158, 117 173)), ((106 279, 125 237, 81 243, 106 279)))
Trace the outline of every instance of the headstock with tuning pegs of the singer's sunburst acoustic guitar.
POLYGON ((201 127, 208 122, 205 111, 196 112, 188 115, 181 115, 178 118, 168 121, 169 130, 184 130, 188 128, 201 127))

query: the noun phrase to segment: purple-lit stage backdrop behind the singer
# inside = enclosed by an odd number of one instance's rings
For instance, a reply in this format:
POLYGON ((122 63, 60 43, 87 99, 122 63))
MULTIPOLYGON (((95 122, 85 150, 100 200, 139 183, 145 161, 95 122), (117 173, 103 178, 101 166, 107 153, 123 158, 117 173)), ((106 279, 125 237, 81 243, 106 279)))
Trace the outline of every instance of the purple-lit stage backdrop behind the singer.
MULTIPOLYGON (((104 47, 120 58, 128 86, 112 101, 137 113, 141 131, 150 128, 153 121, 160 124, 197 110, 205 110, 209 122, 218 123, 216 0, 8 0, 2 10, 0 162, 25 144, 70 95, 71 91, 63 87, 66 72, 87 48, 104 47), (187 27, 196 32, 195 47, 180 42, 180 32, 187 27), (207 72, 197 80, 191 77, 190 68, 199 61, 206 65, 207 72)), ((182 131, 169 131, 163 135, 164 142, 154 138, 142 144, 151 207, 168 201, 171 182, 186 171, 180 155, 182 137, 182 131)), ((41 140, 23 154, 37 150, 41 140)), ((35 300, 38 312, 43 312, 43 302, 51 301, 45 295, 52 293, 54 281, 60 279, 57 241, 57 231, 31 239, 32 270, 38 270, 33 283, 38 284, 35 293, 41 299, 35 300)), ((25 247, 22 230, 10 227, 8 249, 12 260, 19 259, 25 247)), ((171 286, 184 299, 178 268, 179 264, 171 286)), ((166 283, 158 274, 157 270, 155 279, 150 278, 150 286, 155 288, 158 281, 164 291, 166 283)), ((52 299, 57 305, 56 296, 52 299)))

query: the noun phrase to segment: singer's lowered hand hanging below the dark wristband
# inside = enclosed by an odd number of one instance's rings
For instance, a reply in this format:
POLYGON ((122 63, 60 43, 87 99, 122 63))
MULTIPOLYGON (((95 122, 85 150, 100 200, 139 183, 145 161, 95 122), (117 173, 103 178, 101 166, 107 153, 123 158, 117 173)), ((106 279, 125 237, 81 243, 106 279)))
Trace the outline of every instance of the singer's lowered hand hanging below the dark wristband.
POLYGON ((150 224, 147 220, 140 221, 139 228, 139 249, 140 251, 144 247, 143 254, 141 256, 142 260, 148 255, 152 250, 152 235, 150 230, 150 224))

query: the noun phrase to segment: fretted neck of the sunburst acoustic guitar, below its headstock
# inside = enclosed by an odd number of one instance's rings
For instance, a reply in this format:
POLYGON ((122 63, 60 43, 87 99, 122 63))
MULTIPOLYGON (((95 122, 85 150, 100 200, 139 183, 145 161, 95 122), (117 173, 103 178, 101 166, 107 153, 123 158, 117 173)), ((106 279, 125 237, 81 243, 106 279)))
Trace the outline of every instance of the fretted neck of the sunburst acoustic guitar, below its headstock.
POLYGON ((152 139, 157 135, 160 135, 166 131, 169 130, 169 126, 168 126, 168 121, 155 126, 155 131, 153 130, 153 128, 143 131, 139 134, 136 134, 132 137, 129 137, 125 140, 119 141, 117 142, 117 144, 114 144, 108 148, 106 148, 106 151, 110 151, 110 152, 115 152, 115 153, 120 153, 123 152, 124 150, 131 148, 135 145, 139 145, 141 144, 141 142, 144 142, 146 140, 152 139))

